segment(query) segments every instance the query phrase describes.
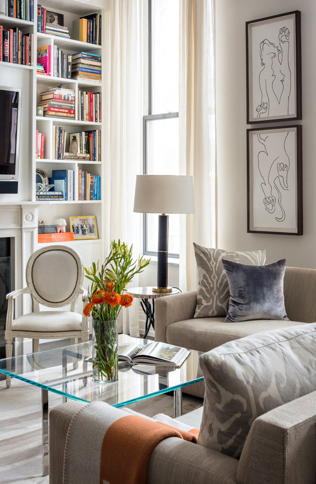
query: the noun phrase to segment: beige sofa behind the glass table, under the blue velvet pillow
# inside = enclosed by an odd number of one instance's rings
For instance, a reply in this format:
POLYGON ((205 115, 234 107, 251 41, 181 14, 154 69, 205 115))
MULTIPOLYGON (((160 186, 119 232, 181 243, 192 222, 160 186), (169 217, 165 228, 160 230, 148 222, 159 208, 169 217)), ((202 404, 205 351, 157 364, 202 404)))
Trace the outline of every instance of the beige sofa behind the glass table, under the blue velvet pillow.
MULTIPOLYGON (((155 303, 155 340, 198 351, 209 351, 228 341, 261 331, 316 321, 316 270, 287 267, 284 276, 285 309, 290 321, 224 322, 224 317, 194 318, 197 291, 160 297, 155 303)), ((204 383, 187 393, 204 396, 204 383)))

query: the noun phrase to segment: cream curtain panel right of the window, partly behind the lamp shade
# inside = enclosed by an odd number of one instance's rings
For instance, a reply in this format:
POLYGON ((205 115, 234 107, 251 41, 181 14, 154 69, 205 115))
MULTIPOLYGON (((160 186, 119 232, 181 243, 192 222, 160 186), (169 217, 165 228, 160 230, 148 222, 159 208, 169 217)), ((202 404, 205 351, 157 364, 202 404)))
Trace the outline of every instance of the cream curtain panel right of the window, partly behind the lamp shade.
POLYGON ((180 174, 193 175, 195 213, 180 216, 179 285, 197 287, 193 242, 216 244, 214 0, 180 1, 180 174))

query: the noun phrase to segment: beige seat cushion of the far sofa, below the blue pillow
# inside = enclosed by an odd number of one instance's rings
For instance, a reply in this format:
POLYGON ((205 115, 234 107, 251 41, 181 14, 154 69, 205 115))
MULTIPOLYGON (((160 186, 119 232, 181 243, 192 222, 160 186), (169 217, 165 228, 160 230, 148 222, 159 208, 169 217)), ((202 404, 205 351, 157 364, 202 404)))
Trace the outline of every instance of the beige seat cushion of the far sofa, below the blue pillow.
POLYGON ((299 321, 256 319, 225 323, 224 318, 199 318, 176 321, 167 327, 167 343, 191 350, 209 351, 228 341, 238 340, 262 331, 297 326, 299 321))

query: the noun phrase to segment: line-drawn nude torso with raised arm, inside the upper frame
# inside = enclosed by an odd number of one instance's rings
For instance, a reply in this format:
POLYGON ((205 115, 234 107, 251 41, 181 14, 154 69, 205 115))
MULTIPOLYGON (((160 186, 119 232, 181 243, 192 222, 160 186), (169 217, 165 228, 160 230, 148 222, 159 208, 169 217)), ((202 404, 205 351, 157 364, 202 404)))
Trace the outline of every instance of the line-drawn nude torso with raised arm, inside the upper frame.
POLYGON ((291 69, 289 63, 290 31, 279 30, 279 45, 268 39, 260 44, 262 70, 259 73, 261 100, 256 107, 257 118, 280 117, 289 114, 291 69))

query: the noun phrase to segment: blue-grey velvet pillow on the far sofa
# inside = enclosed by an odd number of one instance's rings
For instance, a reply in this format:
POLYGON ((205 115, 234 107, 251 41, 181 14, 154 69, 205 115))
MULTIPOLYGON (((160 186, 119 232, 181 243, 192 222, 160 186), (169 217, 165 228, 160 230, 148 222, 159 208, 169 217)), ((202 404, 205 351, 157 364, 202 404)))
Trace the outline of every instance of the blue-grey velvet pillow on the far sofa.
POLYGON ((288 321, 283 293, 286 260, 267 266, 245 266, 222 259, 230 289, 225 321, 283 319, 288 321))

